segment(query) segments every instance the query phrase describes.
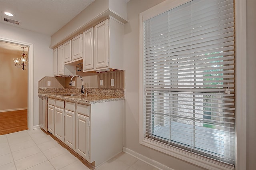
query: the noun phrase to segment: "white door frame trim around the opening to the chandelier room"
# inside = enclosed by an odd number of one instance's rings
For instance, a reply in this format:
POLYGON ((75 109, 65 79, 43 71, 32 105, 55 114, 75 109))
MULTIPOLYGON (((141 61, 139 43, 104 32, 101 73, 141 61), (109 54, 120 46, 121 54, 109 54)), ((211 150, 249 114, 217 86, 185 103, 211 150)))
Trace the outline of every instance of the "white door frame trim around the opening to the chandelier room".
POLYGON ((34 44, 0 37, 0 41, 28 47, 28 129, 34 129, 34 44))

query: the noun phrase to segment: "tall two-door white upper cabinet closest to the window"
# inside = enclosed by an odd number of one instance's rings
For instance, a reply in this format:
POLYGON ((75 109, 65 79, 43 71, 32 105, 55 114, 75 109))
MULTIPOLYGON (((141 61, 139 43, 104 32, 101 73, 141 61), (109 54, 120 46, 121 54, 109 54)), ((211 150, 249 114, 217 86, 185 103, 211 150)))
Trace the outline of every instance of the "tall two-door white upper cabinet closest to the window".
POLYGON ((110 17, 83 33, 84 72, 123 67, 124 24, 110 17), (92 43, 94 40, 93 52, 92 43))

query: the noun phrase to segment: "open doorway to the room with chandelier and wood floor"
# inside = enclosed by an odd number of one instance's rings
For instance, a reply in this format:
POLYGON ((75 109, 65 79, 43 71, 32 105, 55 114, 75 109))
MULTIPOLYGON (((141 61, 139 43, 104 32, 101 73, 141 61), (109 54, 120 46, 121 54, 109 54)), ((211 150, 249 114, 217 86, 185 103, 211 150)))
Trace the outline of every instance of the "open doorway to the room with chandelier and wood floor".
POLYGON ((28 68, 13 61, 23 52, 28 57, 28 47, 0 42, 0 135, 28 129, 28 68))

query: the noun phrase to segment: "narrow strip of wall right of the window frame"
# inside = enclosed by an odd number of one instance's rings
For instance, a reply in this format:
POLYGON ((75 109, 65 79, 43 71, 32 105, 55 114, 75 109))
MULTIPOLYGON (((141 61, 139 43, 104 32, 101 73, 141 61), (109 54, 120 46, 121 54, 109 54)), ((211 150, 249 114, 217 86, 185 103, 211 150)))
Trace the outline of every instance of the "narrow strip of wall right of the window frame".
POLYGON ((256 168, 256 0, 246 1, 246 45, 247 45, 247 170, 256 168))

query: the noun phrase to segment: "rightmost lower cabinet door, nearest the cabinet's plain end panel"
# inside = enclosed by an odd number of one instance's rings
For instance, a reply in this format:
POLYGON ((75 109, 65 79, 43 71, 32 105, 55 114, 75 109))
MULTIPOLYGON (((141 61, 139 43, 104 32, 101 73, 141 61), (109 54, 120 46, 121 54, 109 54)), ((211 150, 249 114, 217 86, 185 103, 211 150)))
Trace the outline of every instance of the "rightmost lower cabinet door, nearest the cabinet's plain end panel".
POLYGON ((89 117, 76 114, 76 152, 89 160, 89 117))

